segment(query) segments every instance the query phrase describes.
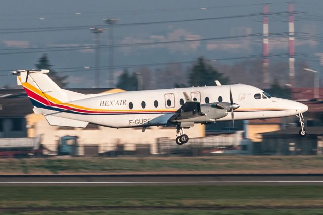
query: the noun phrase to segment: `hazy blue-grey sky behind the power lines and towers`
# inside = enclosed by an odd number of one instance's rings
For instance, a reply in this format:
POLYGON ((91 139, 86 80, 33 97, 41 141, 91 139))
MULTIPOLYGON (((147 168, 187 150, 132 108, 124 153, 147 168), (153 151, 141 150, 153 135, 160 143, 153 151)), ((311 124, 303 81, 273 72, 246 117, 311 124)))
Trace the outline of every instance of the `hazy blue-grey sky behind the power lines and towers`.
MULTIPOLYGON (((114 28, 115 44, 234 37, 262 33, 262 16, 258 14, 262 12, 261 3, 272 3, 270 12, 277 13, 270 16, 270 33, 276 33, 270 35, 270 53, 286 55, 288 6, 284 1, 0 1, 0 86, 15 84, 15 78, 5 74, 14 69, 32 69, 38 58, 43 53, 48 53, 51 64, 57 71, 70 75, 69 87, 93 87, 93 71, 81 69, 84 66, 94 66, 93 49, 52 51, 52 48, 94 45, 94 35, 87 27, 103 27, 103 18, 117 18, 118 24, 127 24, 243 16, 149 25, 119 25, 114 28), (258 15, 251 16, 252 14, 258 15), (73 26, 83 27, 48 31, 49 27, 73 26), (25 51, 29 53, 20 53, 25 51)), ((323 52, 323 30, 320 28, 323 21, 323 15, 320 15, 323 1, 297 1, 294 8, 296 61, 306 60, 313 69, 319 69, 319 59, 309 57, 323 52)), ((101 45, 106 44, 107 32, 104 32, 101 34, 101 45)), ((208 59, 248 57, 261 53, 261 36, 116 47, 114 65, 186 62, 194 61, 199 56, 208 59)), ((287 56, 273 57, 272 60, 287 62, 287 56)), ((219 63, 232 64, 236 61, 238 60, 219 60, 219 63)), ((107 65, 107 49, 101 48, 101 66, 107 65)), ((156 67, 151 69, 155 70, 156 67)), ((120 71, 121 69, 115 69, 116 74, 120 71)), ((105 73, 106 69, 101 72, 105 73)))

